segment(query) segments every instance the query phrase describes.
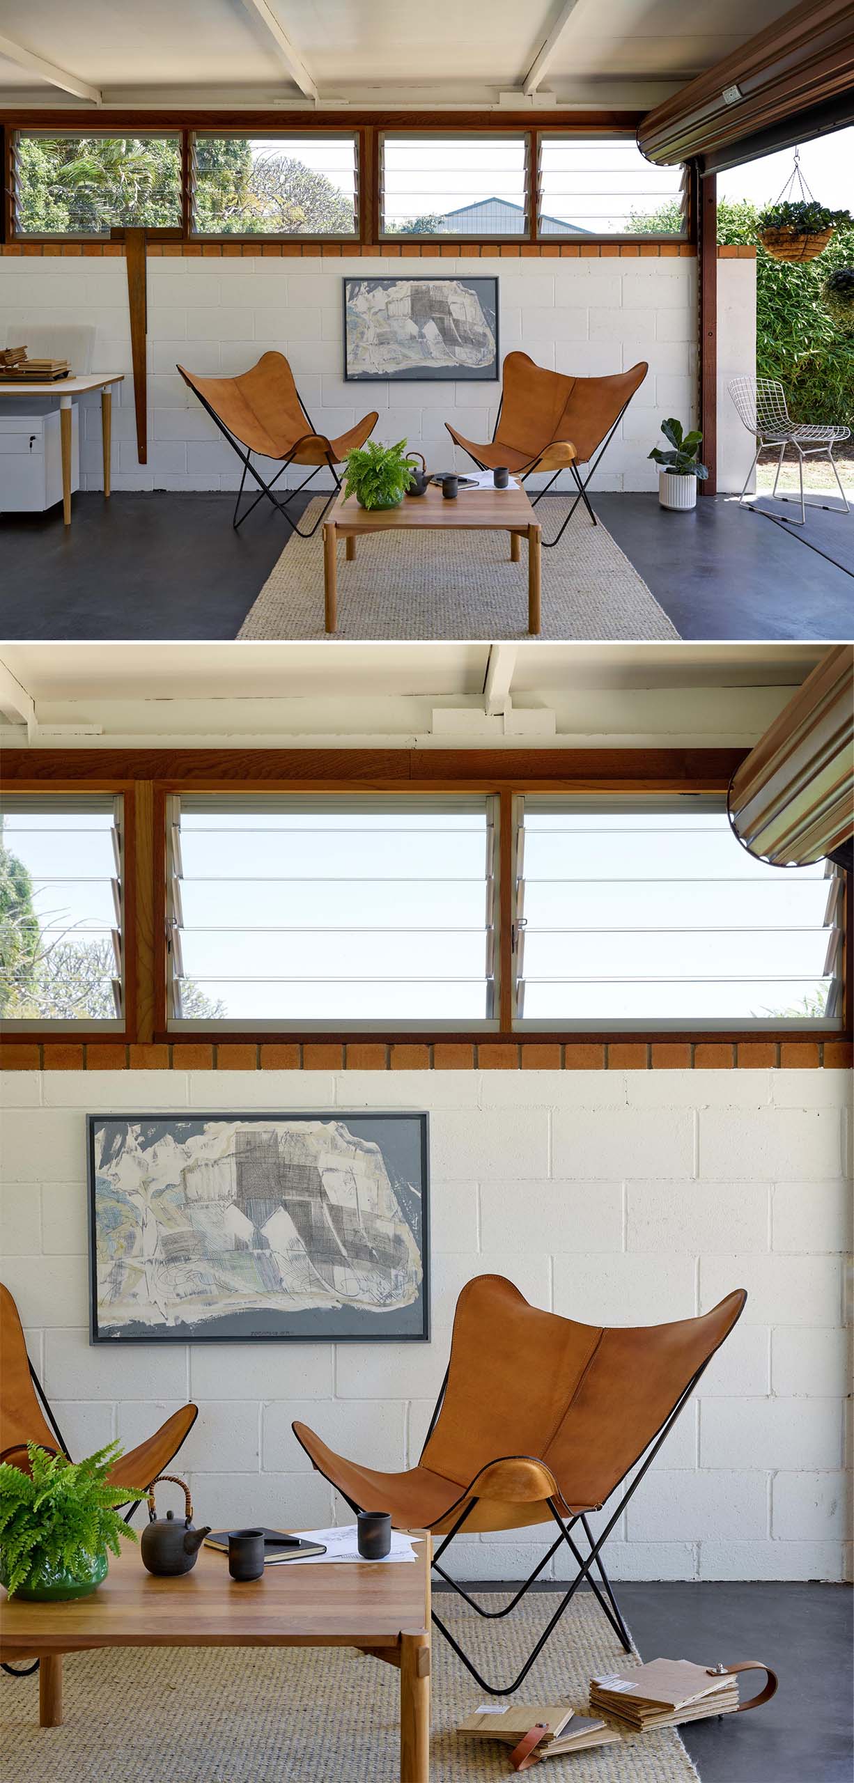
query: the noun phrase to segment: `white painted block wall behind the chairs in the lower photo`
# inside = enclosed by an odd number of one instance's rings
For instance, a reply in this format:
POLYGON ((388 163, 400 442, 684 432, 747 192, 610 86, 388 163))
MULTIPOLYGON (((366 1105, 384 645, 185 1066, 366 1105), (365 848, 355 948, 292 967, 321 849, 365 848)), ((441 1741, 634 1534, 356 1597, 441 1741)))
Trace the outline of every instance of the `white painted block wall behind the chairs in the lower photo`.
MULTIPOLYGON (((2 1277, 75 1453, 132 1446, 187 1398, 198 1519, 348 1519, 291 1434, 417 1462, 456 1294, 510 1277, 588 1323, 656 1323, 749 1291, 612 1537, 617 1578, 825 1578, 845 1565, 849 1075, 686 1072, 12 1072, 2 1277), (84 1114, 428 1109, 430 1344, 89 1346, 84 1114)), ((535 1530, 460 1544, 469 1578, 533 1569, 535 1530)))

